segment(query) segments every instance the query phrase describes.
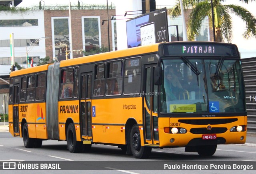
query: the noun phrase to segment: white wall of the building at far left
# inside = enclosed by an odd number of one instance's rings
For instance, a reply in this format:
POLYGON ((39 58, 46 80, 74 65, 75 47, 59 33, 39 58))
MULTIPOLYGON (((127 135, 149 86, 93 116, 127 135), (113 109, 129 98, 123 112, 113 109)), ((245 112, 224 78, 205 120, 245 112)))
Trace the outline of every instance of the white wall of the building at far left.
MULTIPOLYGON (((10 33, 14 33, 15 39, 39 39, 44 34, 44 11, 28 10, 25 12, 0 11, 1 20, 38 19, 38 26, 28 27, 0 27, 0 40, 10 39, 10 33)), ((47 36, 46 36, 47 37, 47 36)), ((28 47, 29 49, 29 47, 28 47)), ((45 39, 39 41, 39 46, 33 47, 28 56, 46 57, 45 39)), ((10 47, 0 47, 0 57, 10 57, 10 47)), ((14 57, 26 57, 26 47, 14 47, 14 57)), ((23 65, 26 66, 26 65, 23 65)), ((9 75, 11 65, 1 65, 0 75, 9 75)))

